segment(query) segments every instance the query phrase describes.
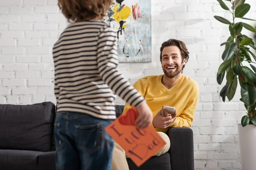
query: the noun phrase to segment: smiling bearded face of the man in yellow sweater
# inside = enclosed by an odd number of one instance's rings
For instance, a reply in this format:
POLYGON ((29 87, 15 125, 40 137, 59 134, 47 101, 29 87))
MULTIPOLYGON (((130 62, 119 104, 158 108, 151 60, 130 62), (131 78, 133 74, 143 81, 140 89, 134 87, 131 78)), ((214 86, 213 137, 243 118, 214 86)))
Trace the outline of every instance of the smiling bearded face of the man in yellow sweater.
POLYGON ((177 46, 168 46, 162 51, 162 68, 166 77, 172 78, 181 73, 186 59, 182 59, 180 49, 177 46))

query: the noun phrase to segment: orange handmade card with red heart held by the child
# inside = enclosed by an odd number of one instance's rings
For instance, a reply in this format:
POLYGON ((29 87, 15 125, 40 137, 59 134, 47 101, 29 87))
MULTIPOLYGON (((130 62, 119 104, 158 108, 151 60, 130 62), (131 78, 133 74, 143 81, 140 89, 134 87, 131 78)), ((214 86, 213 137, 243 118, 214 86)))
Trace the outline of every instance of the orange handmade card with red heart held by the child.
POLYGON ((137 109, 132 107, 108 125, 105 130, 125 150, 130 159, 140 167, 166 142, 152 126, 137 129, 134 125, 137 115, 137 109))

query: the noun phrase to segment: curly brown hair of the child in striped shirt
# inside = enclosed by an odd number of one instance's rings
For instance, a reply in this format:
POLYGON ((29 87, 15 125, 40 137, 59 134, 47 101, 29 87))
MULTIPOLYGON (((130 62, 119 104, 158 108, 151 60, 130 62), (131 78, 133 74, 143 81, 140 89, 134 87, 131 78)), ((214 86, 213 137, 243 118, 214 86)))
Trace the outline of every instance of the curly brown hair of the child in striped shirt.
POLYGON ((103 19, 113 0, 58 0, 61 12, 71 21, 103 19))

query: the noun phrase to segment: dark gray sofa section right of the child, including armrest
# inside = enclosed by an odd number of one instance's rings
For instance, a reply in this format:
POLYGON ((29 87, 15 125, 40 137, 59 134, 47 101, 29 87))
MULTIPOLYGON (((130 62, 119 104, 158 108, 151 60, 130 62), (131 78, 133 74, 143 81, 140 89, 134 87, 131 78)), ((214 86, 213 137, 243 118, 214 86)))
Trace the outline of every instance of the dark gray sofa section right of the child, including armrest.
MULTIPOLYGON (((116 116, 123 112, 123 105, 116 105, 116 116)), ((129 170, 194 170, 193 131, 186 127, 175 127, 168 130, 171 141, 169 152, 152 156, 148 161, 137 167, 127 158, 129 170)))

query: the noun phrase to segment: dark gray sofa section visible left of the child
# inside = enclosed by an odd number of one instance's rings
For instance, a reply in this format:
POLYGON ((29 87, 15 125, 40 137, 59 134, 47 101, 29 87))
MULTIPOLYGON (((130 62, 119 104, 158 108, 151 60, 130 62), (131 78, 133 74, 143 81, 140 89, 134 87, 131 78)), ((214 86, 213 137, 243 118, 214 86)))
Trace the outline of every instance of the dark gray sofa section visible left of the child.
POLYGON ((55 105, 0 105, 0 170, 55 170, 55 105))

